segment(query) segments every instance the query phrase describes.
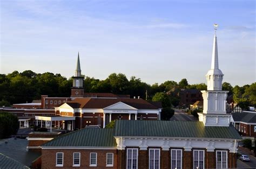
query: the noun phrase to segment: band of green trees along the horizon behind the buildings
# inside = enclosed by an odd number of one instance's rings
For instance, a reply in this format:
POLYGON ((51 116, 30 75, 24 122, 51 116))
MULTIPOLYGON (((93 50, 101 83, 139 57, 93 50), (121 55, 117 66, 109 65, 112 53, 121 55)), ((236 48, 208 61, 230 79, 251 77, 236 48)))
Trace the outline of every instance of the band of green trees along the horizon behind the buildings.
MULTIPOLYGON (((0 74, 0 105, 31 102, 40 99, 41 95, 69 97, 71 87, 72 78, 66 79, 60 74, 49 72, 40 74, 32 71, 22 73, 14 71, 7 75, 0 74)), ((158 83, 149 85, 135 76, 127 79, 122 73, 112 73, 105 80, 87 76, 84 79, 84 91, 87 93, 129 94, 131 97, 140 96, 144 99, 147 97, 147 100, 152 100, 157 93, 164 93, 164 95, 168 95, 170 105, 174 106, 179 104, 179 91, 185 88, 206 90, 207 86, 205 83, 190 85, 186 79, 179 82, 166 81, 160 85, 158 83)), ((234 88, 230 83, 223 83, 223 90, 230 91, 235 102, 245 103, 246 105, 256 104, 255 88, 255 83, 243 87, 235 86, 234 88)), ((159 94, 155 96, 155 98, 158 97, 159 94)), ((169 103, 167 104, 169 105, 169 103)))

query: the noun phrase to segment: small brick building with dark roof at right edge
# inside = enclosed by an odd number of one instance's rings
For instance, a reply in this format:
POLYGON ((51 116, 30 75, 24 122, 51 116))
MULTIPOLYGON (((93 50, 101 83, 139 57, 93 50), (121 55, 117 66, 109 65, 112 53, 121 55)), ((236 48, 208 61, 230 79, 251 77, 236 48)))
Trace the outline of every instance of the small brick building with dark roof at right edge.
POLYGON ((242 111, 232 113, 231 123, 242 136, 256 137, 255 111, 242 111))

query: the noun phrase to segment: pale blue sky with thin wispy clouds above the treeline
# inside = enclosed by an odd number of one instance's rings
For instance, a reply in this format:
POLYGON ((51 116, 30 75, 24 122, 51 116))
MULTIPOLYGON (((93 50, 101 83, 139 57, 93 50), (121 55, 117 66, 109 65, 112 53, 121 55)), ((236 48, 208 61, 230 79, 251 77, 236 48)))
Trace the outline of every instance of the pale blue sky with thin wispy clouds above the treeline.
POLYGON ((213 24, 223 82, 256 81, 255 1, 0 0, 0 74, 31 70, 104 80, 206 83, 213 24))

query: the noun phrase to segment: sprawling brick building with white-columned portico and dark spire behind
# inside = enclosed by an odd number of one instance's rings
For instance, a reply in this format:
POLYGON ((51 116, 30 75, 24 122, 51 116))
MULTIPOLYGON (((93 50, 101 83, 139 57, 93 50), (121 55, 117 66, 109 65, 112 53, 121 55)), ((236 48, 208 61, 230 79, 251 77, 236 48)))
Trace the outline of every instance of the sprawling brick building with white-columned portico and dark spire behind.
POLYGON ((21 127, 39 125, 66 130, 82 129, 87 125, 102 128, 114 119, 160 119, 161 104, 147 102, 130 95, 84 93, 79 53, 70 97, 42 95, 39 103, 14 104, 3 108, 18 116, 21 127))

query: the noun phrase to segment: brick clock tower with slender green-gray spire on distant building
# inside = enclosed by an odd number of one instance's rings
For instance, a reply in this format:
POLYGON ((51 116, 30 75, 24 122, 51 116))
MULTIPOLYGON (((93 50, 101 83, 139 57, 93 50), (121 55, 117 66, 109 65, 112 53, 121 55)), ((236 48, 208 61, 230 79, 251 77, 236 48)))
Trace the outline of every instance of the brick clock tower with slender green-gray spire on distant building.
POLYGON ((79 52, 77 57, 75 76, 73 76, 72 79, 73 87, 71 87, 71 97, 84 97, 84 77, 81 76, 79 52))

